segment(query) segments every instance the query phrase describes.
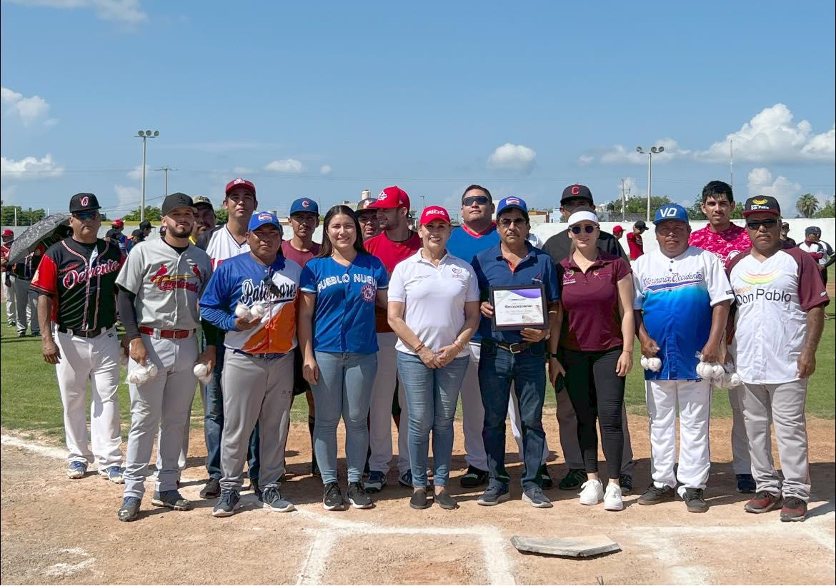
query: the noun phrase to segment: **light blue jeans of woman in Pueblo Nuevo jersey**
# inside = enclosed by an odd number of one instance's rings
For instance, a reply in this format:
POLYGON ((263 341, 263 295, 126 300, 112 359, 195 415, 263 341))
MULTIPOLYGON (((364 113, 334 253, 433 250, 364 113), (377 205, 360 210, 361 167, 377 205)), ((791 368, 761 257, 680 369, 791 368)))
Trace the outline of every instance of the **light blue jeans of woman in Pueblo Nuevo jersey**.
POLYGON ((316 352, 319 381, 314 392, 314 453, 323 484, 337 482, 337 425, 345 423, 349 482, 360 482, 369 450, 369 403, 377 374, 377 354, 316 352))

